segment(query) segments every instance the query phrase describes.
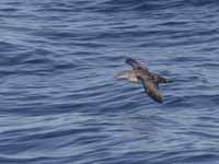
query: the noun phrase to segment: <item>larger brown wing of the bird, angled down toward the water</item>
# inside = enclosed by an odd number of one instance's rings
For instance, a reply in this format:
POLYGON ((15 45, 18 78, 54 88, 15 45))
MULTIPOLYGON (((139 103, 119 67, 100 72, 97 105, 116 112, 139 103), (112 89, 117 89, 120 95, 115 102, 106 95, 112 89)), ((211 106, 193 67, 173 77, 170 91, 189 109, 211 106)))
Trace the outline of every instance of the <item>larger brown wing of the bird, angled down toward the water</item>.
POLYGON ((142 82, 146 93, 155 102, 163 103, 162 95, 159 92, 157 83, 148 77, 137 75, 137 78, 142 82))

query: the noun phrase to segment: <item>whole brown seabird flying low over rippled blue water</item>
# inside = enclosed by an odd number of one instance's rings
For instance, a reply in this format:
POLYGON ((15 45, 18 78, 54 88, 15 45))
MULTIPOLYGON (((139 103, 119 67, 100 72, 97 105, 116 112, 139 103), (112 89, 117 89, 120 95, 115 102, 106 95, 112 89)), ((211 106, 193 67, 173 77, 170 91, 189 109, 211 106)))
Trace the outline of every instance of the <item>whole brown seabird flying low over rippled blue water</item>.
POLYGON ((132 67, 132 70, 120 71, 117 75, 120 79, 126 79, 130 82, 142 83, 146 93, 155 102, 163 103, 162 95, 159 91, 160 83, 172 83, 173 81, 163 78, 157 73, 149 71, 147 67, 143 67, 140 62, 132 58, 126 59, 126 63, 132 67))

